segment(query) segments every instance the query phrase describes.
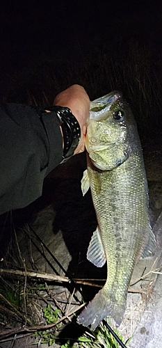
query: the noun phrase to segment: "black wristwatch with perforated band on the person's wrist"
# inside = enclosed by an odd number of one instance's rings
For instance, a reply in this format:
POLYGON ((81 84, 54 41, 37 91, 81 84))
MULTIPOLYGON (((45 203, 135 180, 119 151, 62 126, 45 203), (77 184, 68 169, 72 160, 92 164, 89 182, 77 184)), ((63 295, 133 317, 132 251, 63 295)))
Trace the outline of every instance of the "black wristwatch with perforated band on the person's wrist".
POLYGON ((79 122, 69 108, 63 106, 48 106, 47 110, 56 112, 58 122, 63 130, 63 160, 60 162, 63 163, 74 155, 74 150, 77 148, 81 138, 81 128, 79 122))

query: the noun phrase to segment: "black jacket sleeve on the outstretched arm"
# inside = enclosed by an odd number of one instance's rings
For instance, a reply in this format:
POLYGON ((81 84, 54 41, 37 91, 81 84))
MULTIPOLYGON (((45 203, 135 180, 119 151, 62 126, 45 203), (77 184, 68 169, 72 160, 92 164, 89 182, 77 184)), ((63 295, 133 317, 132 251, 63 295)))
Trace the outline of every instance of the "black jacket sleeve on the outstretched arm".
POLYGON ((42 194, 44 177, 63 158, 56 113, 0 104, 0 214, 26 207, 42 194))

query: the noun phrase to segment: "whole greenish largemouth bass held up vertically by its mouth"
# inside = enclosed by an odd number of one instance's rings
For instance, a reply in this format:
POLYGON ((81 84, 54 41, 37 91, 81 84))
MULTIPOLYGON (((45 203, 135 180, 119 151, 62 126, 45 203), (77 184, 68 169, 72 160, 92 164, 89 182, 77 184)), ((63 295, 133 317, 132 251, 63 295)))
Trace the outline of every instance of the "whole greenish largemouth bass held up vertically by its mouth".
POLYGON ((97 267, 107 262, 107 280, 77 322, 94 330, 107 316, 120 325, 133 267, 156 249, 136 120, 121 93, 91 102, 86 150, 82 191, 90 187, 98 221, 87 258, 97 267))

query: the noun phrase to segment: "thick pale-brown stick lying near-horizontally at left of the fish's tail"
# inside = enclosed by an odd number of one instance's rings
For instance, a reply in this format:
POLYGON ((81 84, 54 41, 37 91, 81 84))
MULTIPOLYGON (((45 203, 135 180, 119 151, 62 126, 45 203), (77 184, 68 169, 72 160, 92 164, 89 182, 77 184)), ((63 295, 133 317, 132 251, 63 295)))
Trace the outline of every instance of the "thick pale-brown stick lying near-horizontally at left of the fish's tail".
POLYGON ((0 269, 0 274, 1 273, 17 274, 18 276, 29 276, 32 278, 43 278, 49 281, 58 280, 60 282, 66 282, 66 283, 70 281, 69 278, 63 277, 63 276, 56 276, 54 274, 39 273, 39 272, 33 272, 33 271, 19 271, 18 269, 0 269))

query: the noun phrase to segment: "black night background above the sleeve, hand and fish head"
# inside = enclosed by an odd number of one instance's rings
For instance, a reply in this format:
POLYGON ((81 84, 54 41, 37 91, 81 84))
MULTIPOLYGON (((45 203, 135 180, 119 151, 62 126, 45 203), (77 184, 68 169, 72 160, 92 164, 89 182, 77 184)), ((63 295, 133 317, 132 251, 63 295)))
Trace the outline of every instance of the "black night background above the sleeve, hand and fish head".
POLYGON ((52 104, 76 83, 91 100, 120 89, 141 135, 159 132, 161 0, 1 1, 0 38, 4 102, 52 104))

